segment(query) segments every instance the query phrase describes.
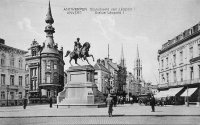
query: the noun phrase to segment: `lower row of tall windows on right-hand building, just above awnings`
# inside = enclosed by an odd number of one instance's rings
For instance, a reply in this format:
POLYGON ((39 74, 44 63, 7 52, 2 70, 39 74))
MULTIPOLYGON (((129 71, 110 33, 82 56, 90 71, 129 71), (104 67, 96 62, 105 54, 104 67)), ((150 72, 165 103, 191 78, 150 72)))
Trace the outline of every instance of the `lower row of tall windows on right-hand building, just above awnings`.
MULTIPOLYGON (((198 72, 199 72, 199 79, 200 79, 200 65, 198 66, 198 72)), ((194 79, 194 69, 193 67, 190 67, 190 80, 194 79)), ((162 83, 169 82, 169 73, 166 73, 166 79, 164 77, 164 74, 162 74, 162 83)), ((177 82, 177 71, 173 71, 173 81, 177 82)), ((180 70, 180 81, 183 81, 183 69, 180 70)))

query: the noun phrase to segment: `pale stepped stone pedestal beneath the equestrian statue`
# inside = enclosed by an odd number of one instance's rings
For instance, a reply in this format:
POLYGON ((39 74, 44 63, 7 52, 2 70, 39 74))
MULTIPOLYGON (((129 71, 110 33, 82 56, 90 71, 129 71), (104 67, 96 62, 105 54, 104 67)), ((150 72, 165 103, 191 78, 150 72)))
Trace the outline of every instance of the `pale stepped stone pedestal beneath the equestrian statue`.
POLYGON ((67 70, 67 83, 58 93, 57 106, 100 107, 104 104, 102 95, 94 83, 93 66, 73 66, 67 70))

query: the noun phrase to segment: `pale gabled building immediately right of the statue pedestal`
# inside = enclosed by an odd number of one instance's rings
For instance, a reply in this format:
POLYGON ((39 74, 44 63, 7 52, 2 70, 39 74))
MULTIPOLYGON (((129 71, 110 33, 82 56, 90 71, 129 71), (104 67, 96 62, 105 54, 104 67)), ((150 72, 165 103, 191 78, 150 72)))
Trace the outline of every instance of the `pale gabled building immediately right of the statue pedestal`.
POLYGON ((110 76, 109 70, 105 67, 104 60, 97 60, 97 63, 94 65, 94 81, 98 87, 98 90, 104 94, 108 94, 107 87, 109 86, 108 78, 110 76))

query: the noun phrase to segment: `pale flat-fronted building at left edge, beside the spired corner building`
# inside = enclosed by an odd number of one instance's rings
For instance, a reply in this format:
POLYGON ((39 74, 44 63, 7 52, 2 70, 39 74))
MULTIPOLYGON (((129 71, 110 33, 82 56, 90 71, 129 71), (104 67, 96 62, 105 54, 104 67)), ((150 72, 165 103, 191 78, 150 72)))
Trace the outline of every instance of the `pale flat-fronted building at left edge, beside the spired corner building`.
POLYGON ((27 51, 5 45, 0 39, 0 106, 20 105, 26 95, 25 54, 27 51))

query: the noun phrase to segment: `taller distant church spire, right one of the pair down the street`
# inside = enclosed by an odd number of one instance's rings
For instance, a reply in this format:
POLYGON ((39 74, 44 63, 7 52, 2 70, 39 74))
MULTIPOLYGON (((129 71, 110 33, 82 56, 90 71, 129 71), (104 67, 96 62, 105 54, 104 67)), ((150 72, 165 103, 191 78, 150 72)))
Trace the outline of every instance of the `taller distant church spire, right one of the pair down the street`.
POLYGON ((135 59, 133 72, 134 72, 136 81, 141 81, 142 80, 142 61, 139 57, 138 45, 137 45, 137 57, 135 59))

